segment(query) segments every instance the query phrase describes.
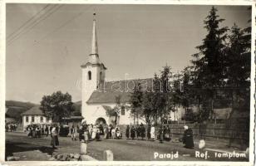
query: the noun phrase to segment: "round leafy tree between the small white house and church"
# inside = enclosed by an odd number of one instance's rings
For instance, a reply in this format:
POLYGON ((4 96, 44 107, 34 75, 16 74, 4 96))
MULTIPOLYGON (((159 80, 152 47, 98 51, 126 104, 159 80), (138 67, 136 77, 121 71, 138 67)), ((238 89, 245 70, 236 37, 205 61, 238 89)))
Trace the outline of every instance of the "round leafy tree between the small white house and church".
POLYGON ((52 95, 44 95, 41 101, 41 109, 54 122, 60 122, 63 117, 69 117, 74 110, 71 95, 62 91, 54 92, 52 95))

